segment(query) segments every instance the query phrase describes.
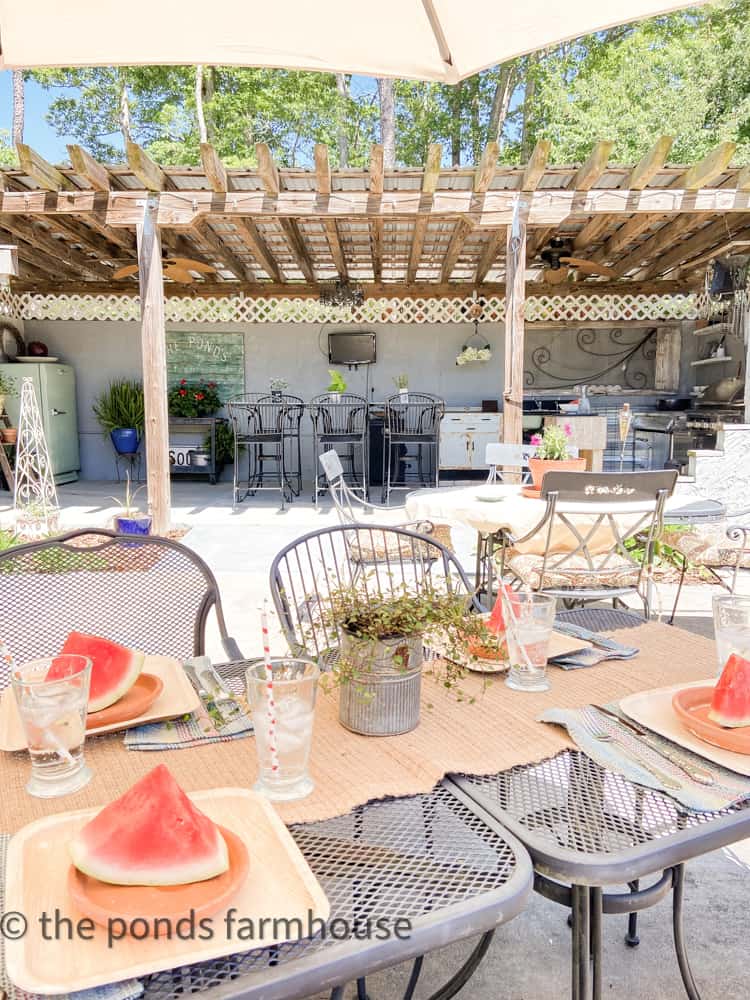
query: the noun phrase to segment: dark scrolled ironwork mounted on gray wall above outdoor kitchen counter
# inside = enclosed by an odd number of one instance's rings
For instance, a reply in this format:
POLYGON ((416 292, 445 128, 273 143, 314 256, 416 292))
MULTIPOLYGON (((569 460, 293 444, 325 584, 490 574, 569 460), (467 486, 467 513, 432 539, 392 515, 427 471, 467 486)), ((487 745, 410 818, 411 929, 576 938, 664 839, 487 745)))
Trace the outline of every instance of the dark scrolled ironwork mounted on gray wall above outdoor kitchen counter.
POLYGON ((613 330, 583 329, 576 333, 576 347, 590 357, 602 358, 603 367, 590 375, 582 376, 580 367, 564 361, 555 363, 552 351, 543 344, 531 352, 531 367, 524 370, 524 385, 535 389, 563 389, 568 386, 592 384, 599 382, 604 376, 616 369, 621 369, 620 384, 629 389, 644 389, 648 385, 651 368, 644 369, 644 362, 653 361, 656 357, 655 330, 649 330, 637 340, 626 339, 632 331, 615 327, 613 330), (609 362, 609 363, 608 363, 609 362), (571 369, 565 371, 565 368, 571 369), (548 379, 548 384, 540 384, 538 377, 548 379))

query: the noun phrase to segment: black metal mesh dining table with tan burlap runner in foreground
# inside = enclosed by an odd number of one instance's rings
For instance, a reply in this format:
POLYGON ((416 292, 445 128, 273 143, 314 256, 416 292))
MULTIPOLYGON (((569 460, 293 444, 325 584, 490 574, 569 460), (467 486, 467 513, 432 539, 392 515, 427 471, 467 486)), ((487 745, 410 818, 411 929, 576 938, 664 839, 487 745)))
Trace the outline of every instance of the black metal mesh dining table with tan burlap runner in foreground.
MULTIPOLYGON (((620 620, 627 616, 612 618, 620 620)), ((451 996, 478 964, 494 927, 526 903, 530 868, 519 842, 533 859, 535 888, 573 910, 574 1000, 599 996, 602 911, 644 908, 672 888, 678 957, 688 995, 697 997, 682 941, 682 865, 750 836, 750 806, 686 812, 666 794, 600 767, 563 729, 537 721, 545 709, 617 702, 715 674, 713 643, 700 636, 655 623, 620 634, 639 648, 634 659, 551 669, 546 692, 512 691, 470 674, 459 700, 428 675, 419 726, 387 739, 344 730, 336 693, 321 692, 311 758, 315 790, 278 804, 278 812, 328 894, 331 918, 408 915, 411 937, 312 938, 256 949, 152 975, 146 997, 176 1000, 205 991, 216 998, 292 1000, 331 987, 341 997, 346 981, 483 935, 451 989, 439 994, 451 996), (638 880, 652 874, 655 885, 637 891, 638 880), (603 892, 625 884, 634 891, 603 892)), ((243 663, 222 668, 238 690, 243 672, 243 663)), ((89 786, 46 802, 24 791, 25 755, 3 755, 5 832, 53 812, 111 801, 156 763, 167 764, 187 791, 248 787, 256 777, 251 739, 157 754, 126 751, 122 737, 110 735, 91 738, 86 754, 94 772, 89 786)), ((407 997, 411 991, 413 985, 407 997)))

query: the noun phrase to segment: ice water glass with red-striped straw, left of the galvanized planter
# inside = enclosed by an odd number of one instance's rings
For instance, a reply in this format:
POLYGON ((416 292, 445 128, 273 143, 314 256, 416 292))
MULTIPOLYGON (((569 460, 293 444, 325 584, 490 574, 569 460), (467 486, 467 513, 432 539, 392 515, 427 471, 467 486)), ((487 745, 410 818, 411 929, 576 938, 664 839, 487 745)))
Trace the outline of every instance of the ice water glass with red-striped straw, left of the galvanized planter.
POLYGON ((270 662, 270 684, 263 662, 245 675, 258 752, 255 790, 276 801, 301 799, 314 787, 307 766, 320 671, 310 660, 270 662))

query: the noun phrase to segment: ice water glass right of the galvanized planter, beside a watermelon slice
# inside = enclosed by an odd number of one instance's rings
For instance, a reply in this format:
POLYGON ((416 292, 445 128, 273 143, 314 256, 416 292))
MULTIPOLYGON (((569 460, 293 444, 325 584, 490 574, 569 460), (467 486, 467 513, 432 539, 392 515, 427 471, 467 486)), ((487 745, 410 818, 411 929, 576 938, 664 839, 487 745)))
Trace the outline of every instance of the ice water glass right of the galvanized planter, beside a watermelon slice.
POLYGON ((510 661, 505 683, 514 691, 546 691, 547 653, 556 601, 548 594, 514 593, 505 613, 510 661))

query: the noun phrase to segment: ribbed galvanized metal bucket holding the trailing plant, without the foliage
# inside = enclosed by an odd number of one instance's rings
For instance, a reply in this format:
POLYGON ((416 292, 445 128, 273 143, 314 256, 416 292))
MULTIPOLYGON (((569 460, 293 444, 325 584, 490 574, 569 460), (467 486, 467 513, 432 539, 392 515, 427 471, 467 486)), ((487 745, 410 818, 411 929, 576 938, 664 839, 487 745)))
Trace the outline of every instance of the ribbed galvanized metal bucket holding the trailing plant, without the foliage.
POLYGON ((339 722, 362 736, 398 736, 419 723, 422 637, 361 640, 345 635, 341 657, 355 676, 339 689, 339 722))

